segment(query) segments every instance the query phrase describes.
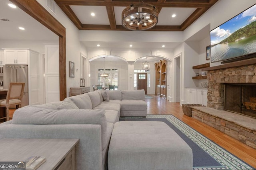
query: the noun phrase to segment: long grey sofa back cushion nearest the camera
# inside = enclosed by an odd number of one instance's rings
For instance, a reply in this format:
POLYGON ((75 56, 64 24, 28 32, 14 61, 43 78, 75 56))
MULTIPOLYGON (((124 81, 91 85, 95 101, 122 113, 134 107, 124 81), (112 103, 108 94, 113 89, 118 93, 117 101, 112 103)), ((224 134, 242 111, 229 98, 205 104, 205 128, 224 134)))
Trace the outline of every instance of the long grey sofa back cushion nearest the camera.
MULTIPOLYGON (((12 118, 12 124, 96 124, 101 125, 102 146, 106 146, 107 121, 102 109, 42 109, 37 107, 21 107, 12 118)), ((102 148, 103 149, 103 148, 102 148)))

